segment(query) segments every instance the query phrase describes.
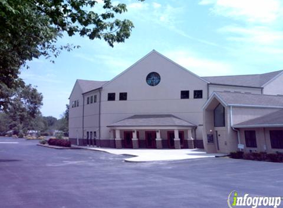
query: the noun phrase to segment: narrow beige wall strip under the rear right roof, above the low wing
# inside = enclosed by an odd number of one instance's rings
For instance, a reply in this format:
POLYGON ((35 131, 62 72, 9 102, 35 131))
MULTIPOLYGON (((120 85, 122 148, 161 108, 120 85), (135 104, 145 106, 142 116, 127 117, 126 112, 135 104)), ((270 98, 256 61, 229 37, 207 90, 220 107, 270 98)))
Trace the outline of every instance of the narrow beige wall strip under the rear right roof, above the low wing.
POLYGON ((261 88, 251 88, 251 87, 237 87, 237 86, 227 86, 227 85, 216 85, 209 84, 209 96, 213 92, 241 92, 241 93, 251 93, 251 94, 261 94, 261 88))

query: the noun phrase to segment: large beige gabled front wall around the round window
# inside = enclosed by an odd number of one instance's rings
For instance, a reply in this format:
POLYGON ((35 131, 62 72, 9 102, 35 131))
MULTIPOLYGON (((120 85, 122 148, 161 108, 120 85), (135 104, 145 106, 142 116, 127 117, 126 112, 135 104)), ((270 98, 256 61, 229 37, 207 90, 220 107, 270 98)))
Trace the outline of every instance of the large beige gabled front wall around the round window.
MULTIPOLYGON (((173 114, 202 125, 207 85, 162 56, 151 53, 104 86, 101 96, 101 139, 108 139, 107 125, 134 114, 173 114), (153 71, 161 76, 161 82, 154 87, 146 83, 146 76, 153 71), (180 99, 181 90, 189 90, 190 99, 180 99), (202 90, 202 99, 193 98, 194 90, 202 90), (119 101, 120 92, 127 92, 127 101, 119 101), (116 101, 107 101, 108 93, 116 93, 116 101)), ((197 139, 202 139, 202 126, 197 129, 197 139)))

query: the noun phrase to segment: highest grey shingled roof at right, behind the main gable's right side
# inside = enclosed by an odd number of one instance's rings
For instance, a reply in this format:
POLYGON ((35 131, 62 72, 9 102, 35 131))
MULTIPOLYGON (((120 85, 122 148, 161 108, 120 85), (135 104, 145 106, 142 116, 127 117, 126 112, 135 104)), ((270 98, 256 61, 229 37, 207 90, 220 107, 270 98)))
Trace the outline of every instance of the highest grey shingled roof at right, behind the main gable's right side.
POLYGON ((204 76, 202 78, 211 84, 236 85, 246 87, 263 87, 266 83, 273 80, 283 73, 283 70, 273 71, 263 74, 234 75, 234 76, 204 76))

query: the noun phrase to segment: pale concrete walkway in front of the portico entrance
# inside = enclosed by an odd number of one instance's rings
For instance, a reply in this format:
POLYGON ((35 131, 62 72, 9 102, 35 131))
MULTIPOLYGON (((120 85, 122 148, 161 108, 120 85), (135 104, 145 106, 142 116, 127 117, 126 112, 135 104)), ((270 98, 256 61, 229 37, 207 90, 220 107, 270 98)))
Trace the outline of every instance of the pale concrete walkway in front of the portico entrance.
POLYGON ((222 153, 207 154, 202 149, 115 149, 87 146, 80 147, 83 149, 103 151, 116 155, 134 156, 125 159, 126 162, 174 161, 227 155, 222 153))

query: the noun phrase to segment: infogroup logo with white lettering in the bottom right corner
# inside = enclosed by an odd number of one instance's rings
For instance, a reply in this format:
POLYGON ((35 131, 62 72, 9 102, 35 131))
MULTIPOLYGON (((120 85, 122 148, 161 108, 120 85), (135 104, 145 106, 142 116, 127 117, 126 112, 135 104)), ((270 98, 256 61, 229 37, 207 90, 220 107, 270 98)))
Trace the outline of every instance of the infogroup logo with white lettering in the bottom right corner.
POLYGON ((242 197, 238 195, 237 191, 231 191, 228 195, 228 207, 273 207, 278 208, 281 205, 283 197, 251 197, 249 194, 244 194, 242 197))

